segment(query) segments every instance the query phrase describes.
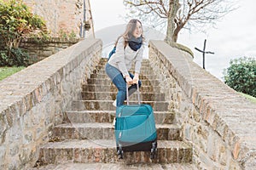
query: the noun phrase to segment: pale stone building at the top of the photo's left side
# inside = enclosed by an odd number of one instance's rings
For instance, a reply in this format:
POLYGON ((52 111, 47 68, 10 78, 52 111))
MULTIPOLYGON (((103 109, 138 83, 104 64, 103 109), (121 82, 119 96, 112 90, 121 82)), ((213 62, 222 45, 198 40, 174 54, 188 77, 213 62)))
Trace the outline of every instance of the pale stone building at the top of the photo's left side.
POLYGON ((61 34, 76 37, 94 37, 90 0, 23 0, 32 13, 46 21, 46 26, 53 37, 61 34))

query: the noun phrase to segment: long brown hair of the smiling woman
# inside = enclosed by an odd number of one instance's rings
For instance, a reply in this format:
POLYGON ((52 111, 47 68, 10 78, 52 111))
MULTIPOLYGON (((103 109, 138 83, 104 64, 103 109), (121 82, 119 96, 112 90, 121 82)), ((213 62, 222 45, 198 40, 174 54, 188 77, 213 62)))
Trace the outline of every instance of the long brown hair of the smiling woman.
POLYGON ((125 39, 124 47, 126 47, 126 45, 128 43, 128 40, 132 37, 132 32, 135 31, 135 29, 136 29, 137 22, 139 22, 142 26, 142 38, 143 38, 143 41, 144 41, 142 22, 140 20, 137 20, 137 19, 131 19, 128 22, 127 26, 126 26, 125 32, 121 36, 118 37, 118 39, 114 43, 114 46, 117 45, 117 42, 119 41, 119 38, 123 37, 125 39))

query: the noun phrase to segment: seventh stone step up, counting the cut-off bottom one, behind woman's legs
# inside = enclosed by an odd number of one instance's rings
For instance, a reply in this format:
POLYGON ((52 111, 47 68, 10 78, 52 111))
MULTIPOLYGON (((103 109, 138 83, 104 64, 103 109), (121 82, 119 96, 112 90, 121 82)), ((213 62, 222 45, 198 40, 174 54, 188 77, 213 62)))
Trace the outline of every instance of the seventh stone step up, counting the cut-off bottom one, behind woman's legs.
MULTIPOLYGON (((118 89, 114 86, 113 83, 107 85, 98 86, 96 84, 84 84, 83 85, 83 92, 117 92, 118 89)), ((143 85, 140 88, 141 93, 160 93, 159 86, 145 86, 143 85)))

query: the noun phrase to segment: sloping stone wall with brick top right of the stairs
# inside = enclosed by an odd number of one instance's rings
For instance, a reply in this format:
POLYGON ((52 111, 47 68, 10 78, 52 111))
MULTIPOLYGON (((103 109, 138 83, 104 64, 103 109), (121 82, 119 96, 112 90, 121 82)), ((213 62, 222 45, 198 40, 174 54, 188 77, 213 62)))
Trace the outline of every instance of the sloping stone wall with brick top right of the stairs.
POLYGON ((193 145, 200 169, 255 169, 256 105, 201 69, 186 52, 149 42, 149 60, 161 92, 193 145))

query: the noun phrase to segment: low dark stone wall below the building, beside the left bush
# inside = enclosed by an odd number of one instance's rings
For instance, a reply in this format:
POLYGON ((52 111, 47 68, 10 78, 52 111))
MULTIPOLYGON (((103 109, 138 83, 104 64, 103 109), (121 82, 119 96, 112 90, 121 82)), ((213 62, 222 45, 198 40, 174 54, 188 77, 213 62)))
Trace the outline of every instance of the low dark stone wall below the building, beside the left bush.
POLYGON ((50 37, 47 40, 40 40, 30 37, 20 42, 20 48, 26 49, 30 56, 29 63, 33 64, 79 41, 79 38, 50 37))

